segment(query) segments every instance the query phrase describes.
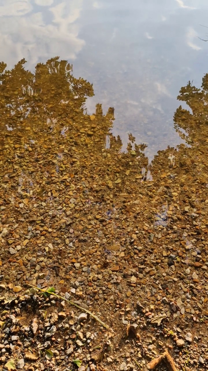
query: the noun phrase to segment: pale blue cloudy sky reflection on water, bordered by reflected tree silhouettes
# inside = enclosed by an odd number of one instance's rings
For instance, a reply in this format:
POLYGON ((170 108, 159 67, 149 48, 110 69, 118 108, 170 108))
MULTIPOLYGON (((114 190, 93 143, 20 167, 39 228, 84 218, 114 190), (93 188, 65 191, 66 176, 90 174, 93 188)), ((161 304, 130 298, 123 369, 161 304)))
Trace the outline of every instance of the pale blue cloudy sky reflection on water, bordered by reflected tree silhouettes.
POLYGON ((104 113, 113 106, 123 149, 132 133, 151 160, 182 142, 177 95, 207 72, 207 43, 198 38, 207 37, 207 14, 204 0, 1 0, 0 60, 12 68, 25 58, 33 71, 55 55, 67 59, 75 77, 93 83, 88 113, 97 102, 104 113))

